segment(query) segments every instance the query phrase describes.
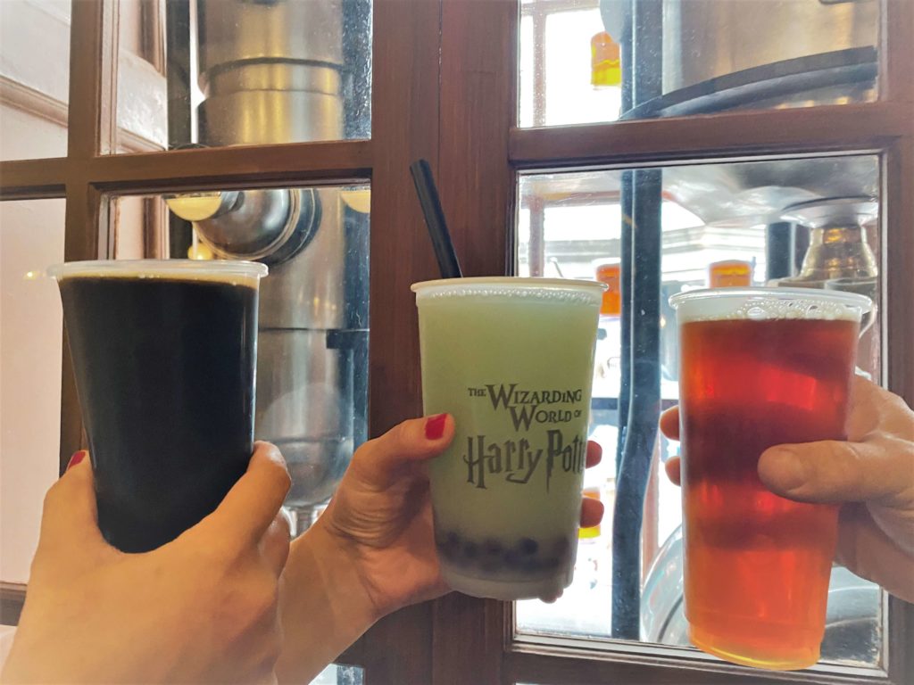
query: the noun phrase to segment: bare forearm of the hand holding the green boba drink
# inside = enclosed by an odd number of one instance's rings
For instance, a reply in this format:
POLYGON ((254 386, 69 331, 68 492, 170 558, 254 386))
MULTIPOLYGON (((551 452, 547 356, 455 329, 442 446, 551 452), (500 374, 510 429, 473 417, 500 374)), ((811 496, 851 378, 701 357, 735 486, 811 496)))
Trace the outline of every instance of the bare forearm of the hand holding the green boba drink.
POLYGON ((292 543, 282 573, 281 683, 307 683, 377 620, 351 561, 322 526, 292 543))

